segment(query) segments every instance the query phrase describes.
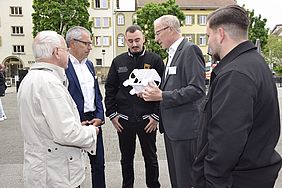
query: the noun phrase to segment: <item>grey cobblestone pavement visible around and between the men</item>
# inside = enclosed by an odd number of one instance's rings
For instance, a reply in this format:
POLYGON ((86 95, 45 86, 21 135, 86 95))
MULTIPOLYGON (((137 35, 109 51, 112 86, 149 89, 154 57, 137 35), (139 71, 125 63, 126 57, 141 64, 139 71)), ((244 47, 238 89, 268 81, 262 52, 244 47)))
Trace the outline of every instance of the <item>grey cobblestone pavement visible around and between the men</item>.
MULTIPOLYGON (((103 92, 104 86, 101 85, 103 92)), ((280 109, 282 109, 282 88, 278 88, 280 109)), ((17 115, 16 89, 7 89, 7 95, 1 98, 4 105, 7 120, 0 122, 0 187, 22 188, 22 163, 23 163, 23 139, 17 115)), ((114 127, 107 119, 103 126, 103 138, 106 159, 106 183, 108 188, 121 187, 120 152, 118 138, 114 127)), ((163 136, 157 135, 157 148, 160 166, 160 182, 163 188, 169 188, 169 176, 165 156, 163 136)), ((277 150, 282 155, 282 138, 280 138, 277 150)), ((88 167, 89 169, 89 167, 88 167)), ((82 188, 90 188, 89 170, 82 188)), ((139 143, 137 142, 135 154, 135 188, 144 188, 145 170, 139 143)), ((282 187, 282 172, 276 182, 275 188, 282 187)))

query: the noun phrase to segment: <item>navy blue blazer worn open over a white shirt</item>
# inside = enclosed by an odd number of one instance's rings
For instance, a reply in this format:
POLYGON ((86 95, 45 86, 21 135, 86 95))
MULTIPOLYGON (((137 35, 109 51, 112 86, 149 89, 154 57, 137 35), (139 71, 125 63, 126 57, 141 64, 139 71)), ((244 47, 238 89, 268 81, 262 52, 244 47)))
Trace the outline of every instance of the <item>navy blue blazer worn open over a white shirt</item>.
MULTIPOLYGON (((103 108, 103 104, 102 104, 102 95, 101 95, 101 92, 100 92, 98 79, 95 75, 94 66, 93 66, 92 62, 89 61, 89 60, 86 61, 86 65, 87 65, 89 71, 91 72, 91 74, 93 75, 93 78, 94 78, 95 105, 96 105, 95 117, 104 121, 105 118, 104 118, 104 108, 103 108)), ((69 81, 68 90, 69 90, 73 100, 75 101, 75 103, 77 105, 77 109, 78 109, 78 112, 79 112, 79 115, 80 115, 80 119, 82 119, 83 114, 84 114, 84 98, 83 98, 82 90, 81 90, 77 75, 75 73, 74 67, 73 67, 70 60, 69 60, 69 63, 68 63, 68 68, 66 69, 66 75, 67 75, 67 78, 68 78, 68 81, 69 81)))

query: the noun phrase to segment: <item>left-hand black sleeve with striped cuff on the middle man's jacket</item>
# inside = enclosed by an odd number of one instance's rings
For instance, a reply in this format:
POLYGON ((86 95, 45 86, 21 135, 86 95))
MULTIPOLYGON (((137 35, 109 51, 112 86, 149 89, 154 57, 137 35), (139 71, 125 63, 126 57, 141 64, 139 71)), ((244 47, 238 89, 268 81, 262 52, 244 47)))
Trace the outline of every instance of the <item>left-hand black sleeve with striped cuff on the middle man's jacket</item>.
POLYGON ((110 119, 118 115, 117 102, 116 102, 116 95, 118 89, 119 89, 118 73, 115 68, 115 60, 113 60, 105 83, 106 116, 109 117, 110 119))

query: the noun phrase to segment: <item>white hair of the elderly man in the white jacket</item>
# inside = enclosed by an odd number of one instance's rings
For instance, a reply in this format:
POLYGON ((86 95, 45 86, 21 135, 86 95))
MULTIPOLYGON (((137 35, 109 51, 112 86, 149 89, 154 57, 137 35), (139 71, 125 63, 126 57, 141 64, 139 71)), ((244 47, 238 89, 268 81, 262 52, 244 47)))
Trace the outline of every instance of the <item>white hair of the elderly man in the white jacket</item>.
POLYGON ((32 43, 34 57, 36 59, 50 58, 53 55, 54 48, 61 45, 61 38, 55 31, 39 32, 32 43))

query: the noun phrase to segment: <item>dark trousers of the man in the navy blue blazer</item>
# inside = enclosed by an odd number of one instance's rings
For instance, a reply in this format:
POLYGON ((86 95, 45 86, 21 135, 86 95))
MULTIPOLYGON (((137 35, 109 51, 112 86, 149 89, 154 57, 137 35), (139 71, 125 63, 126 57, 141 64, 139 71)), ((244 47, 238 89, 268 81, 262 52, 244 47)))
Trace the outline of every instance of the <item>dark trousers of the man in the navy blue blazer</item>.
MULTIPOLYGON (((85 113, 82 121, 92 120, 94 118, 94 113, 85 113)), ((105 188, 105 158, 104 158, 104 144, 102 129, 99 128, 99 134, 97 135, 97 148, 96 155, 90 155, 90 166, 91 166, 91 176, 92 176, 92 188, 105 188)))

